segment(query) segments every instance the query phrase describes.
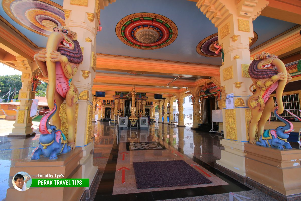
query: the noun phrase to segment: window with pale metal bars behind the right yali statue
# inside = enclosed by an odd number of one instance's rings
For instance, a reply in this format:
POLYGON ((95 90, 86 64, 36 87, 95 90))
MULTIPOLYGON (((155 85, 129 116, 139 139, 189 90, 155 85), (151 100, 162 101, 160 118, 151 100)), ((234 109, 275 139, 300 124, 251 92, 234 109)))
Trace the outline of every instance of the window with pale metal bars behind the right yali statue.
MULTIPOLYGON (((276 103, 276 97, 273 97, 274 102, 275 102, 275 106, 277 106, 276 103)), ((285 109, 288 109, 290 112, 294 113, 295 115, 297 115, 298 117, 301 116, 301 112, 300 110, 300 100, 299 100, 299 94, 290 94, 290 95, 284 95, 282 96, 282 101, 283 101, 283 105, 284 105, 284 111, 281 114, 281 117, 290 119, 290 120, 294 120, 296 119, 293 115, 291 115, 290 113, 288 113, 285 109)), ((271 114, 271 119, 272 120, 278 120, 274 114, 274 112, 272 112, 271 114)))

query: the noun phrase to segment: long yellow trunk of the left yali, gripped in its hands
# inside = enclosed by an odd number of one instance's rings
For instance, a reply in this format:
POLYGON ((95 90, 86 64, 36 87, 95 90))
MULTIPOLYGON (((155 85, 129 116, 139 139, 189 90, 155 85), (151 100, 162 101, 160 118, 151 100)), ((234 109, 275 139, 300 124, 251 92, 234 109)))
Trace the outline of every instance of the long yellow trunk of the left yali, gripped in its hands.
POLYGON ((47 90, 47 102, 50 109, 54 108, 54 93, 56 88, 56 64, 51 61, 51 52, 57 50, 61 41, 63 41, 63 35, 59 32, 52 32, 46 44, 46 66, 48 71, 48 90, 47 90))

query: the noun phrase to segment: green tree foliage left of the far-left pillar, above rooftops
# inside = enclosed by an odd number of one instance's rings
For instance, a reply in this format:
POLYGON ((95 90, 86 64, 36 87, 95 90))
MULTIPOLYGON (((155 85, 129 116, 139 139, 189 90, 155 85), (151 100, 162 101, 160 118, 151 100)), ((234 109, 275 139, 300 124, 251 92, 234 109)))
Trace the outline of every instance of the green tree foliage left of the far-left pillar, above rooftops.
MULTIPOLYGON (((16 95, 19 94, 19 91, 22 88, 21 75, 5 75, 0 76, 0 98, 9 92, 9 88, 11 87, 11 92, 16 88, 16 95)), ((8 96, 5 96, 5 102, 7 102, 8 96)), ((11 99, 13 98, 13 94, 10 95, 11 99)))

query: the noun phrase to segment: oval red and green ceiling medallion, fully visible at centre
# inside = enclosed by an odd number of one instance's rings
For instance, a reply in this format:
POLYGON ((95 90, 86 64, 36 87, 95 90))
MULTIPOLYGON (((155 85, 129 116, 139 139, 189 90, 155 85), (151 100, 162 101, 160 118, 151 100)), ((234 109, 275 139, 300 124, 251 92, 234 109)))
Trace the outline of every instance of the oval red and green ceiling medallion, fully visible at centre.
POLYGON ((116 25, 116 35, 124 44, 137 49, 160 49, 178 36, 172 20, 154 13, 134 13, 116 25))

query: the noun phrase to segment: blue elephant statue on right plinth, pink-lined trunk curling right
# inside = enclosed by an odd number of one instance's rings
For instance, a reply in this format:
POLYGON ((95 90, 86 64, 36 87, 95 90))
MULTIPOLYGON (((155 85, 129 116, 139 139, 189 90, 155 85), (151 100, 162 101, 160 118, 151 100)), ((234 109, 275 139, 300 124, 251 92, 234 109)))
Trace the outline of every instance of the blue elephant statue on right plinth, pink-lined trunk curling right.
POLYGON ((277 113, 277 108, 274 111, 275 116, 282 122, 285 123, 285 126, 278 126, 276 129, 265 130, 262 135, 259 137, 259 142, 256 142, 259 146, 269 146, 277 149, 293 149, 290 146, 290 143, 287 142, 287 138, 289 137, 289 132, 293 130, 293 124, 282 118, 277 113))

